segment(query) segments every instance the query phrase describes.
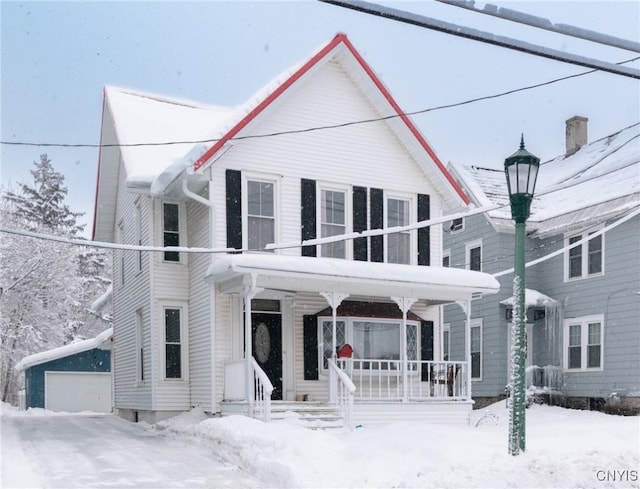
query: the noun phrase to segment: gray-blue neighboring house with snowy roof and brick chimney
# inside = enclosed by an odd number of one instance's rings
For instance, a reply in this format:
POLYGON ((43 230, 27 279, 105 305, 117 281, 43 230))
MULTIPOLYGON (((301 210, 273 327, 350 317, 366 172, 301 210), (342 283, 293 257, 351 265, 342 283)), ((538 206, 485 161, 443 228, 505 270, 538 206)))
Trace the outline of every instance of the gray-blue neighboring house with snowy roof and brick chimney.
MULTIPOLYGON (((526 260, 529 392, 567 407, 640 413, 640 124, 587 144, 566 125, 565 155, 540 167, 526 260), (604 230, 604 233, 598 234, 604 230), (581 242, 584 239, 584 242, 581 242), (574 246, 571 246, 575 243, 574 246)), ((535 150, 533 150, 535 153, 535 150)), ((514 226, 504 171, 450 165, 478 206, 449 223, 443 265, 495 274, 500 293, 473 301, 472 396, 505 396, 510 369, 514 226)), ((465 316, 444 307, 443 356, 464 358, 465 316)))

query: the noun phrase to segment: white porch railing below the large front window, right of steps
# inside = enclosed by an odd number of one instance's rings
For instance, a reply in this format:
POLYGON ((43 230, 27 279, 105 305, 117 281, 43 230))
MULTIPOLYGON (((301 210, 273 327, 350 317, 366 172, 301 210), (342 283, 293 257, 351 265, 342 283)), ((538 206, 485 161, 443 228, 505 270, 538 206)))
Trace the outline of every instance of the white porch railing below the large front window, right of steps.
POLYGON ((339 358, 338 366, 357 387, 356 399, 468 400, 467 362, 339 358))

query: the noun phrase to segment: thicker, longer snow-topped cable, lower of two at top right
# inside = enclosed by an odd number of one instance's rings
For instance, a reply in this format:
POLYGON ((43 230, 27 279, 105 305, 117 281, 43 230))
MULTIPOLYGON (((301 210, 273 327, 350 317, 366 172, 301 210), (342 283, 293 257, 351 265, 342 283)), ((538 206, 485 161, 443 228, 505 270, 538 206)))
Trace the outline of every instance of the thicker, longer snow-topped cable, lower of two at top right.
POLYGON ((426 17, 424 15, 407 12, 404 10, 394 9, 386 7, 384 5, 378 5, 370 2, 363 2, 359 0, 320 0, 323 3, 331 5, 337 5, 339 7, 345 7, 365 14, 375 15, 377 17, 383 17, 385 19, 396 20, 398 22, 404 22, 405 24, 412 24, 425 29, 431 29, 438 32, 444 32, 457 37, 463 37, 465 39, 471 39, 474 41, 480 41, 494 46, 500 46, 515 51, 520 51, 534 56, 540 56, 547 59, 553 59, 555 61, 562 61, 564 63, 570 63, 578 66, 585 66, 599 71, 612 73, 614 75, 626 76, 640 80, 640 70, 634 68, 628 68, 625 66, 618 66, 615 63, 609 63, 606 61, 600 61, 593 58, 587 58, 575 54, 566 53, 564 51, 558 51, 556 49, 547 48, 544 46, 538 46, 535 44, 529 44, 518 39, 513 39, 505 36, 497 36, 489 32, 483 32, 469 27, 451 24, 449 22, 443 22, 438 19, 426 17))

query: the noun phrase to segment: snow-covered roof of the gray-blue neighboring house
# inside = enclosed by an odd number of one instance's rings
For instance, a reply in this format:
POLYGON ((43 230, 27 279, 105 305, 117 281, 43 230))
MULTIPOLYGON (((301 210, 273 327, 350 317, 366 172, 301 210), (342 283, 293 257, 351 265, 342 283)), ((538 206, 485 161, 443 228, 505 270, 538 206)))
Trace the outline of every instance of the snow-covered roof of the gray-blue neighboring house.
MULTIPOLYGON (((512 228, 503 170, 450 165, 498 230, 512 228)), ((528 229, 539 236, 585 226, 640 205, 640 123, 540 166, 528 229)))

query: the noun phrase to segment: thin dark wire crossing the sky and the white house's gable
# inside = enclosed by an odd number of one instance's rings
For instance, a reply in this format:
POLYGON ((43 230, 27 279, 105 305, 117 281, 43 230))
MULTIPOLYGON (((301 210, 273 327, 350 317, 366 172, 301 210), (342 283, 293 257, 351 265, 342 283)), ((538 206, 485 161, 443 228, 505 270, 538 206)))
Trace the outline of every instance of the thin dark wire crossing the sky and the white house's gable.
MULTIPOLYGON (((616 63, 616 64, 623 65, 623 64, 626 64, 626 63, 631 63, 633 61, 637 61, 639 59, 640 59, 640 56, 637 56, 635 58, 631 58, 631 59, 628 59, 626 61, 620 61, 619 63, 616 63)), ((330 125, 325 125, 325 126, 309 127, 309 128, 305 128, 305 129, 291 129, 291 130, 288 130, 288 131, 272 132, 272 133, 265 133, 265 134, 253 134, 253 135, 247 135, 247 136, 236 136, 236 137, 230 138, 230 140, 231 141, 239 141, 239 140, 245 140, 245 139, 258 139, 258 138, 284 136, 284 135, 287 135, 287 134, 308 133, 308 132, 322 131, 322 130, 327 130, 327 129, 340 129, 342 127, 355 126, 355 125, 358 125, 358 124, 369 124, 369 123, 372 123, 372 122, 387 121, 387 120, 396 119, 396 118, 403 117, 403 116, 413 116, 413 115, 426 114, 426 113, 429 113, 429 112, 435 112, 435 111, 444 110, 444 109, 452 109, 452 108, 455 108, 455 107, 461 107, 461 106, 473 104, 473 103, 476 103, 476 102, 482 102, 484 100, 491 100, 491 99, 495 99, 495 98, 504 97, 504 96, 507 96, 507 95, 512 95, 512 94, 518 93, 518 92, 524 92, 526 90, 532 90, 534 88, 544 87, 544 86, 551 85, 553 83, 557 83, 557 82, 560 82, 560 81, 570 80, 572 78, 578 78, 580 76, 589 75, 589 74, 595 73, 597 71, 599 71, 599 70, 593 69, 593 70, 589 70, 589 71, 584 71, 582 73, 576 73, 574 75, 563 76, 561 78, 555 78, 553 80, 548 80, 548 81, 545 81, 545 82, 536 83, 534 85, 528 85, 528 86, 525 86, 525 87, 514 88, 512 90, 507 90, 505 92, 495 93, 495 94, 492 94, 492 95, 484 95, 482 97, 476 97, 476 98, 464 100, 462 102, 454 102, 454 103, 451 103, 451 104, 438 105, 438 106, 435 106, 435 107, 429 107, 427 109, 415 110, 415 111, 412 111, 412 112, 403 112, 401 114, 392 114, 392 115, 383 116, 383 117, 376 117, 376 118, 371 118, 371 119, 362 119, 362 120, 358 120, 358 121, 343 122, 343 123, 339 123, 339 124, 330 124, 330 125)), ((141 142, 141 143, 113 143, 113 144, 35 143, 35 142, 26 142, 26 141, 0 141, 0 144, 10 145, 10 146, 35 146, 35 147, 56 147, 56 148, 130 148, 130 147, 141 147, 141 146, 170 146, 170 145, 177 145, 177 144, 215 143, 215 142, 218 142, 220 140, 221 140, 221 138, 211 138, 211 139, 194 139, 194 140, 181 140, 181 141, 162 141, 162 142, 154 142, 154 143, 141 142)))

